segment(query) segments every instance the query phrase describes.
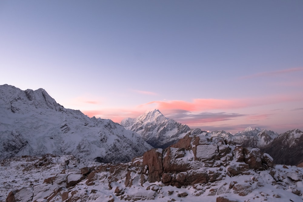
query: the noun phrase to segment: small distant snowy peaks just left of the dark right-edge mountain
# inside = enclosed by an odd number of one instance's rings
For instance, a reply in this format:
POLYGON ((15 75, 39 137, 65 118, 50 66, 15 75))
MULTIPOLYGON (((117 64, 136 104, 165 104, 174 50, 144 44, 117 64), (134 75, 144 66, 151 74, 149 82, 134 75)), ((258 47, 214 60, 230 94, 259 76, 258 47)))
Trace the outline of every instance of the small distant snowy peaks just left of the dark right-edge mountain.
POLYGON ((243 147, 260 148, 271 143, 278 135, 274 131, 261 130, 259 127, 247 127, 243 131, 238 131, 232 137, 232 141, 241 144, 243 147))

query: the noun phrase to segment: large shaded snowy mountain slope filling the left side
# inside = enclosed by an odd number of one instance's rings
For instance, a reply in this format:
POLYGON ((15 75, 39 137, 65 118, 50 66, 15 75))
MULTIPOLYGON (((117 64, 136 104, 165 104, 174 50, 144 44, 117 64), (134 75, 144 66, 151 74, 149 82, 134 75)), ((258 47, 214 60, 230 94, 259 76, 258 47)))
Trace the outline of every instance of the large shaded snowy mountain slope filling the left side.
POLYGON ((109 119, 65 109, 48 93, 0 85, 0 159, 73 154, 100 162, 127 162, 152 147, 109 119))

